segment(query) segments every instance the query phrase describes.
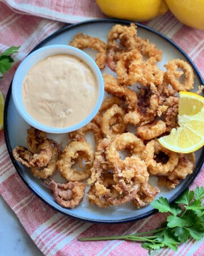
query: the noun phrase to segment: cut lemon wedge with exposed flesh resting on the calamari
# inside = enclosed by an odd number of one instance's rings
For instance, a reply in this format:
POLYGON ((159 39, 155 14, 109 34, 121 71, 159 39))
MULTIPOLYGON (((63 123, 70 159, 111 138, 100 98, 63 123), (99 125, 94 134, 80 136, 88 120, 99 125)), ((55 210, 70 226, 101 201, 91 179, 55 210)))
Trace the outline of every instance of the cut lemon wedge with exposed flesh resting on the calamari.
POLYGON ((192 92, 180 92, 179 128, 173 128, 159 142, 171 151, 190 153, 204 145, 204 97, 192 92))

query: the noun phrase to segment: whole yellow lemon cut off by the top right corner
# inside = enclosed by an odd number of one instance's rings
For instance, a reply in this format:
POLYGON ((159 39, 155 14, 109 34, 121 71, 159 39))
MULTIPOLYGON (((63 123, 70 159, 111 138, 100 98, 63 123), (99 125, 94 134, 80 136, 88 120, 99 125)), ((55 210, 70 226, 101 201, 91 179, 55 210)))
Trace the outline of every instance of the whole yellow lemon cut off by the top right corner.
POLYGON ((180 22, 204 30, 204 0, 166 0, 166 3, 180 22))

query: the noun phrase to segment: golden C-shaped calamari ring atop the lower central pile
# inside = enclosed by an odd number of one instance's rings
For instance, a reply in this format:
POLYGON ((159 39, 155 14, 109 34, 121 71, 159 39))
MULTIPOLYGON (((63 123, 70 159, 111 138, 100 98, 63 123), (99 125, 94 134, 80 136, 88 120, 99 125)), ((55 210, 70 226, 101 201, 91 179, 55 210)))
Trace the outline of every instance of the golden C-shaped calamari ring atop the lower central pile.
POLYGON ((122 169, 124 167, 124 160, 120 158, 118 150, 130 151, 131 155, 141 156, 145 145, 142 139, 139 139, 133 133, 123 133, 116 135, 107 147, 107 159, 113 165, 113 167, 118 167, 122 169))

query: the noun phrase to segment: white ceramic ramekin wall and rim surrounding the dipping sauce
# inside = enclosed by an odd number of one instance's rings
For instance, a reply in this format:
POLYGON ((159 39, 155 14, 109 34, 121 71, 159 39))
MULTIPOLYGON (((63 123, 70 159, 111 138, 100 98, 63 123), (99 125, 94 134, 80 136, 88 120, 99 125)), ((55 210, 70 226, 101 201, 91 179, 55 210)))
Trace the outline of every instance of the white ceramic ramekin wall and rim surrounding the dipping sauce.
POLYGON ((85 126, 88 122, 91 121, 91 119, 95 117, 95 115, 99 111, 104 98, 103 76, 101 75, 101 71, 97 67, 95 61, 90 56, 88 56, 87 53, 81 51, 80 49, 61 44, 46 46, 37 49, 36 51, 29 54, 19 65, 12 81, 12 97, 19 114, 27 123, 29 123, 29 125, 41 131, 46 131, 47 133, 69 133, 70 131, 78 130, 81 127, 85 126), (76 56, 84 61, 84 63, 86 63, 91 68, 96 77, 99 94, 94 109, 92 109, 91 113, 85 119, 83 119, 79 123, 76 123, 76 125, 73 126, 55 128, 42 125, 41 123, 37 122, 33 117, 31 117, 31 115, 28 114, 22 100, 22 85, 25 75, 27 74, 29 69, 33 67, 33 65, 35 65, 38 61, 45 59, 45 57, 60 53, 76 56))

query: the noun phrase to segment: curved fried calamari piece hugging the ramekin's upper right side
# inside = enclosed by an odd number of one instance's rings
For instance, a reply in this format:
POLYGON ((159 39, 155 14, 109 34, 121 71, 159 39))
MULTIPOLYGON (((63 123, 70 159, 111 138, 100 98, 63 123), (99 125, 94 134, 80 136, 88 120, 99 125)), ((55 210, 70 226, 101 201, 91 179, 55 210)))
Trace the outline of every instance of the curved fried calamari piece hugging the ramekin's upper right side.
POLYGON ((83 49, 91 48, 98 51, 96 55, 96 64, 100 69, 105 67, 107 61, 107 45, 99 38, 92 38, 83 33, 76 34, 69 43, 70 46, 83 49))

